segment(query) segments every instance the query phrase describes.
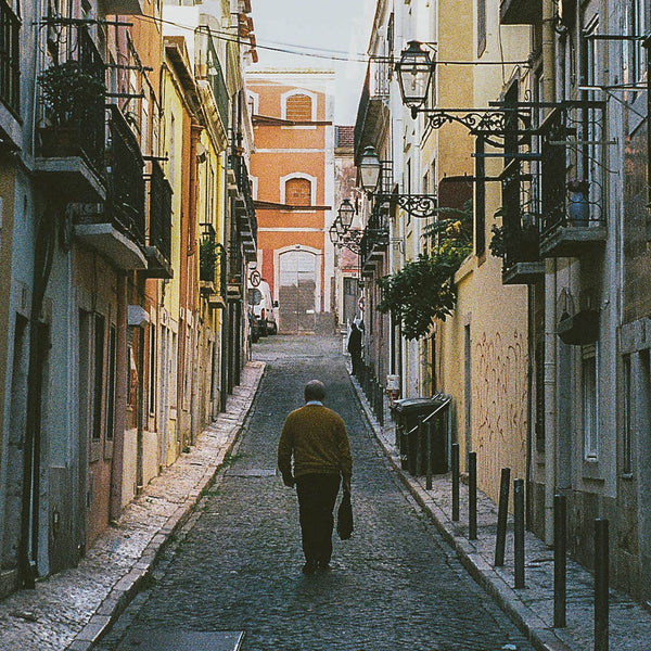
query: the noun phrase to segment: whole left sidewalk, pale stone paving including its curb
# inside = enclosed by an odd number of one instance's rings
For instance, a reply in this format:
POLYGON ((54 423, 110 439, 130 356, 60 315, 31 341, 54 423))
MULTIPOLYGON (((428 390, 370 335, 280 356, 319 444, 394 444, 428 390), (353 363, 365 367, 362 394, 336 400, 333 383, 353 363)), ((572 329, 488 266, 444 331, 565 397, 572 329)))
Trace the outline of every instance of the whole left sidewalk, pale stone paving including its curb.
POLYGON ((92 649, 212 483, 242 431, 264 370, 260 361, 246 365, 226 412, 189 454, 152 480, 77 567, 0 601, 0 651, 92 649))

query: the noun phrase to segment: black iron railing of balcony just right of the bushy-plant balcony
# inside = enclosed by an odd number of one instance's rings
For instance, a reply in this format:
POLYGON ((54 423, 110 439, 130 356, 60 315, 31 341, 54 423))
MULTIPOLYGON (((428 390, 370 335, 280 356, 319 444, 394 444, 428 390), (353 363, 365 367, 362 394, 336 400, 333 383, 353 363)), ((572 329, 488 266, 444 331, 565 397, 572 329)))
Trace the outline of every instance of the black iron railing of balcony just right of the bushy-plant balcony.
POLYGON ((122 111, 108 107, 107 209, 114 226, 144 246, 144 175, 140 145, 122 111))

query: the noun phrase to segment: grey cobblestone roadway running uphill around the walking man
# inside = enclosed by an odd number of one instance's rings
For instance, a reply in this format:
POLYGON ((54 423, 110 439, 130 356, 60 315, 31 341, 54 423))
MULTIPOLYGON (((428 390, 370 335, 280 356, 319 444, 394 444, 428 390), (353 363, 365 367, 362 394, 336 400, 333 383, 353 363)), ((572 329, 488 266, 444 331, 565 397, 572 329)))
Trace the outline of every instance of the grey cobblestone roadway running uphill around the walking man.
POLYGON ((268 337, 254 359, 267 371, 230 461, 99 648, 136 649, 137 635, 186 629, 242 630, 247 651, 531 650, 390 469, 341 341, 268 337), (282 422, 312 378, 348 426, 356 528, 350 540, 335 539, 330 573, 306 577, 295 494, 275 465, 282 422))

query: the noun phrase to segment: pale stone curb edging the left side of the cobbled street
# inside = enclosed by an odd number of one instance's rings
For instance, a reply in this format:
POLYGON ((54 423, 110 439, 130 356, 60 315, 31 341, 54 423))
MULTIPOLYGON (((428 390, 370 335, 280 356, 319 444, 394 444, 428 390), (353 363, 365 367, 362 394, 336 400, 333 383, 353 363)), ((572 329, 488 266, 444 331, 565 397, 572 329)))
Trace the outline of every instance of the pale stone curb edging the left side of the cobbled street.
MULTIPOLYGON (((217 450, 217 454, 210 461, 210 465, 199 478, 194 488, 188 493, 186 500, 179 505, 176 511, 167 519, 165 524, 159 528, 158 533, 153 536, 150 542, 144 548, 139 560, 133 564, 130 572, 125 574, 111 589, 108 595, 103 599, 97 611, 91 615, 86 626, 75 636, 74 640, 66 647, 65 651, 90 651, 93 649, 100 639, 108 631, 113 624, 123 614, 131 600, 146 584, 151 575, 154 563, 165 550, 170 540, 170 536, 180 529, 190 519, 194 507, 201 499, 202 493, 209 488, 217 473, 224 464, 224 459, 232 451, 233 447, 240 438, 244 423, 251 412, 251 408, 257 395, 260 381, 265 374, 265 363, 259 365, 259 372, 254 380, 254 383, 246 387, 250 398, 243 396, 241 392, 233 393, 229 398, 237 398, 237 406, 242 407, 239 416, 232 419, 232 413, 225 412, 224 420, 230 425, 227 443, 224 447, 217 450)), ((219 421, 219 417, 217 421, 219 421)), ((208 433, 210 427, 202 434, 208 433)))

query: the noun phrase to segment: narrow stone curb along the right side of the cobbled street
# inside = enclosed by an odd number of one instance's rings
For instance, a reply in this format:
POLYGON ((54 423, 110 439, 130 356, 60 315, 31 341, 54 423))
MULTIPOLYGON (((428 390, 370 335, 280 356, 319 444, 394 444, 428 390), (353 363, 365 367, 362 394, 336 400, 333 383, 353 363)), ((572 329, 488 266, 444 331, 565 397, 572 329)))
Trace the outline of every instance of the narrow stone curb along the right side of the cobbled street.
POLYGON ((353 376, 350 376, 350 383, 384 456, 423 512, 430 516, 444 540, 456 551, 461 564, 473 579, 493 597, 495 602, 507 613, 520 630, 527 636, 538 651, 572 651, 571 647, 567 647, 556 635, 552 628, 549 628, 536 613, 518 598, 518 593, 495 572, 493 566, 476 553, 473 542, 457 534, 454 523, 420 484, 407 476, 400 468, 399 460, 392 455, 391 449, 385 446, 382 436, 379 435, 380 424, 372 413, 366 396, 361 392, 361 387, 353 376))

